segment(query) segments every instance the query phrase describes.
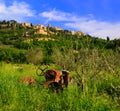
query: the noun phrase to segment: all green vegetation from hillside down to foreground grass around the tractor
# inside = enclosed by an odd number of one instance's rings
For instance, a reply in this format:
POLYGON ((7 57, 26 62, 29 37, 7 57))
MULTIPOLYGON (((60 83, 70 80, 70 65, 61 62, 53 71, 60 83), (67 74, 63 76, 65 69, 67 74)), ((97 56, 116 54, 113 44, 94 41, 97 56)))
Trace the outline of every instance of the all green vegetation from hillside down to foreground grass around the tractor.
POLYGON ((1 111, 120 110, 120 39, 72 35, 52 27, 54 34, 36 35, 32 27, 14 20, 0 24, 1 111), (60 94, 44 89, 39 85, 44 78, 35 74, 40 64, 69 70, 70 76, 82 80, 83 91, 75 83, 60 94), (25 76, 36 78, 38 84, 20 84, 25 76))

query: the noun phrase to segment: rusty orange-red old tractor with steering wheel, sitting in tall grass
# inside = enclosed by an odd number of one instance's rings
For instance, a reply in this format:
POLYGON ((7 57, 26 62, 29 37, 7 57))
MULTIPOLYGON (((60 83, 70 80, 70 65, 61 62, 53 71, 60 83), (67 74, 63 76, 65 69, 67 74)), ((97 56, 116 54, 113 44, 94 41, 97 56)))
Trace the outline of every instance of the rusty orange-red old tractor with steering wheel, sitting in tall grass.
POLYGON ((42 84, 44 87, 48 87, 52 91, 63 91, 67 88, 69 82, 69 71, 67 70, 48 70, 48 66, 36 70, 38 76, 44 76, 45 82, 42 84))

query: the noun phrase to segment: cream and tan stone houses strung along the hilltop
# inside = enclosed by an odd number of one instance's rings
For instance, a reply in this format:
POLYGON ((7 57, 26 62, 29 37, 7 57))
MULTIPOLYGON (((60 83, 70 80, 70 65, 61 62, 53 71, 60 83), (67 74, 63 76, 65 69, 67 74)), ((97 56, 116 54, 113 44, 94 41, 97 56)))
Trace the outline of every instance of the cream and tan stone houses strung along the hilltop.
MULTIPOLYGON (((48 30, 48 27, 50 27, 50 25, 48 25, 48 26, 46 27, 46 26, 41 25, 41 24, 32 25, 31 23, 28 23, 28 22, 21 23, 21 25, 22 25, 23 27, 33 27, 33 29, 36 29, 35 34, 44 34, 44 35, 54 34, 52 31, 48 30)), ((54 29, 55 29, 56 31, 63 31, 63 30, 64 30, 64 29, 62 29, 62 28, 60 28, 60 27, 57 27, 57 26, 54 27, 54 29)), ((81 32, 81 31, 75 32, 75 31, 71 30, 70 33, 71 33, 72 35, 75 35, 75 34, 80 35, 80 36, 81 36, 81 35, 84 35, 84 33, 81 32)))

